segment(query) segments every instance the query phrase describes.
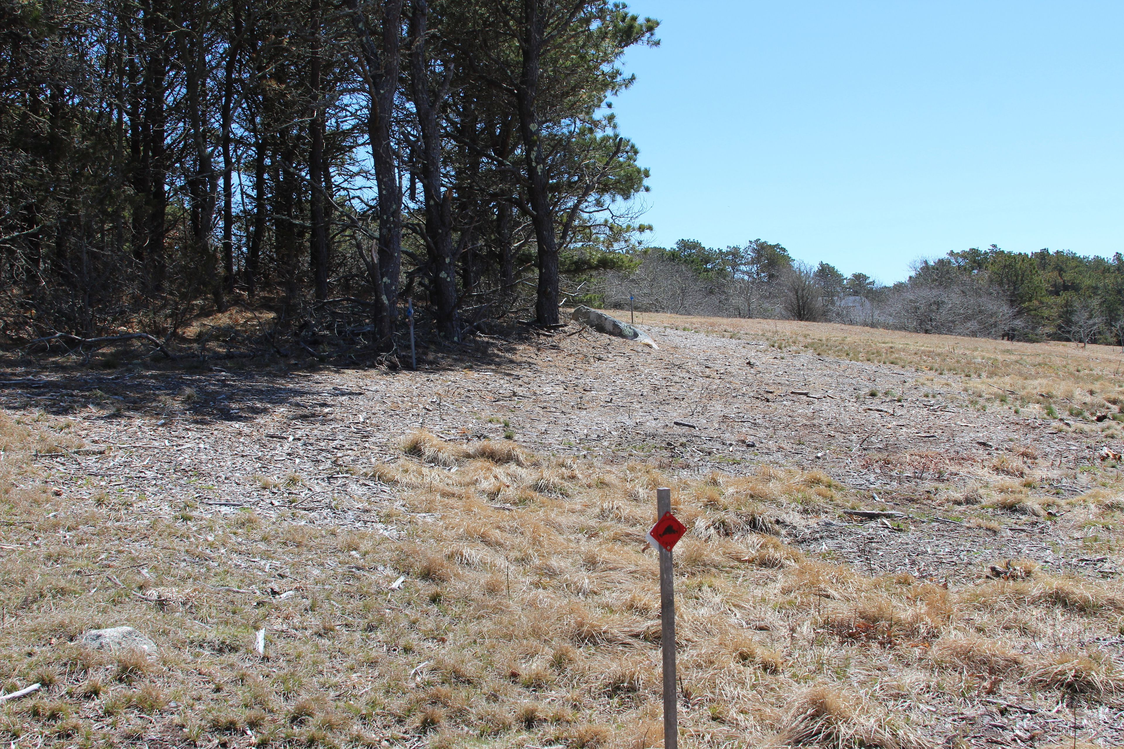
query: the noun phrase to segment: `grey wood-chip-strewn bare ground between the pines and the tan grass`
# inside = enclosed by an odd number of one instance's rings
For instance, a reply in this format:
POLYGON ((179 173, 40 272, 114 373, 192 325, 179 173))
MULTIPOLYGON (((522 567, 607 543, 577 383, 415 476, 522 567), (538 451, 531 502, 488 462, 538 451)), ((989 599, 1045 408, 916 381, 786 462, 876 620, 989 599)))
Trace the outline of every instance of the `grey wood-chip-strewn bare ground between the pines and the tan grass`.
POLYGON ((936 502, 981 476, 1014 475, 1009 466, 1055 476, 1041 488, 1061 496, 1087 491, 1091 481, 1073 469, 1097 464, 1096 436, 978 410, 953 378, 782 354, 763 340, 649 332, 659 350, 571 327, 531 342, 497 339, 488 358, 436 357, 419 372, 10 369, 39 382, 9 384, 0 405, 75 421, 94 450, 39 460, 78 491, 137 497, 134 511, 156 515, 189 502, 219 513, 283 506, 310 522, 393 533, 380 520, 397 501, 392 487, 350 469, 399 456, 400 438, 425 427, 454 440, 514 432, 536 453, 686 473, 818 468, 850 487, 855 506, 908 517, 825 515, 786 535, 872 573, 964 578, 981 560, 1026 556, 1115 574, 1113 560, 1081 556, 1080 518, 1009 515, 988 530, 936 502))

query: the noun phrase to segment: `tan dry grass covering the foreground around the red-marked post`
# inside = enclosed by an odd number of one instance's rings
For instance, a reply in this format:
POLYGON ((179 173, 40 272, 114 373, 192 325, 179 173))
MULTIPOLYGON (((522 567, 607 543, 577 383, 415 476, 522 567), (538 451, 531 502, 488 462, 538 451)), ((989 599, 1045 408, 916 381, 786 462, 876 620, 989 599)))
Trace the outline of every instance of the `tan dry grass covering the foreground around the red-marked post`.
POLYGON ((398 531, 388 538, 283 506, 140 518, 71 485, 56 496, 28 459, 51 426, 0 419, 13 523, 0 681, 46 685, 0 707, 6 740, 230 746, 250 730, 262 747, 655 746, 658 569, 644 533, 659 485, 691 528, 676 552, 685 746, 923 747, 980 675, 1009 677, 1026 704, 1120 688, 1097 654, 1032 645, 1117 632, 1117 584, 1019 576, 1012 561, 1004 579, 945 590, 801 551, 778 533, 835 517, 846 497, 821 472, 671 475, 416 432, 369 469, 397 493, 379 509, 398 531), (116 624, 160 655, 76 645, 116 624), (262 628, 264 658, 252 649, 262 628))

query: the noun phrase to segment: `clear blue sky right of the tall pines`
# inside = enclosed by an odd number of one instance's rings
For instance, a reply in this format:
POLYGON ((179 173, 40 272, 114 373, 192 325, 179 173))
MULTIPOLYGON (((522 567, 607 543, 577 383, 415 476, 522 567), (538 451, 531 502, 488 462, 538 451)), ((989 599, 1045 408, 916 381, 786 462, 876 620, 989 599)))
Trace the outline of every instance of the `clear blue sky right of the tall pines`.
POLYGON ((1124 252, 1124 2, 632 0, 614 104, 650 241, 761 237, 892 283, 997 244, 1124 252))

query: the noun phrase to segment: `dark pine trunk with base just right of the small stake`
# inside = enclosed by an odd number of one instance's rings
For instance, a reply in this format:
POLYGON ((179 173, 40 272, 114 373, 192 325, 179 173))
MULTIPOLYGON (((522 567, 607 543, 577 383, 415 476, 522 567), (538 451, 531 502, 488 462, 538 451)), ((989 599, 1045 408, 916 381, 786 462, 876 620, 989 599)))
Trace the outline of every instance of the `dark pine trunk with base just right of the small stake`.
POLYGON ((422 192, 425 195, 425 234, 433 266, 434 322, 437 332, 456 338, 456 267, 453 252, 453 193, 442 184, 442 133, 438 107, 442 92, 429 90, 429 60, 426 33, 429 8, 426 0, 414 0, 410 15, 410 92, 420 133, 422 192))

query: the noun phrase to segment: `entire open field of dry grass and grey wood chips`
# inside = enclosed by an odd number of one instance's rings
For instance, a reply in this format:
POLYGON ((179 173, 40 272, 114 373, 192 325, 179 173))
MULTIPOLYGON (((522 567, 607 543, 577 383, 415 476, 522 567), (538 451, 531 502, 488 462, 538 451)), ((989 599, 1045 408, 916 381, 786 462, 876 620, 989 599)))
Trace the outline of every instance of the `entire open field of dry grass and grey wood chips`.
POLYGON ((1124 745, 1118 353, 643 322, 417 373, 11 360, 0 679, 42 686, 0 737, 660 746, 670 486, 681 746, 1124 745), (116 625, 158 652, 82 647, 116 625))

